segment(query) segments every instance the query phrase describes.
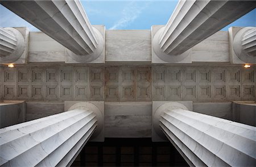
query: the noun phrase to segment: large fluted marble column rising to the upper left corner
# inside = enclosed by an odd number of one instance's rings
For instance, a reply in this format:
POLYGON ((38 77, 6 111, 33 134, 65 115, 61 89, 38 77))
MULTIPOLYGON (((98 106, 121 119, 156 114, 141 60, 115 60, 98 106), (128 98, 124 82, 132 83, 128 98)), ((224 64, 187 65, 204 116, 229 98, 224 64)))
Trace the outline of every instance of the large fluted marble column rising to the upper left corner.
POLYGON ((92 27, 78 0, 0 3, 68 48, 69 56, 76 61, 95 60, 103 51, 103 36, 92 27))

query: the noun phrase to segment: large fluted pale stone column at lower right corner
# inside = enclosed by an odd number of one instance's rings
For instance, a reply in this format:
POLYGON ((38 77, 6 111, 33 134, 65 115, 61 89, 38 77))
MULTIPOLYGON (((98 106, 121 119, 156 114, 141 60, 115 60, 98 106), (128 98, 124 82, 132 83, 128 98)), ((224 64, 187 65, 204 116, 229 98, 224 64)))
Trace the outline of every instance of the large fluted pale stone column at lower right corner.
POLYGON ((165 103, 155 113, 155 126, 190 166, 255 165, 255 127, 188 111, 177 102, 165 103))

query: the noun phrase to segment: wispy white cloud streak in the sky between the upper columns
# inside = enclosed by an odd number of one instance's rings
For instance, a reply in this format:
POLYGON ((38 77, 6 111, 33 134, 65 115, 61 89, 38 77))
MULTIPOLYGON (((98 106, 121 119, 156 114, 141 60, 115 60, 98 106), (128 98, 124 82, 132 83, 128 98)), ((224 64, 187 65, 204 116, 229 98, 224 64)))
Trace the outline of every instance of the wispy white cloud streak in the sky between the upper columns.
POLYGON ((138 6, 137 3, 130 2, 125 9, 122 11, 122 18, 119 19, 109 30, 117 30, 121 28, 125 28, 130 23, 134 22, 135 19, 141 14, 141 12, 146 9, 148 3, 144 6, 138 6))

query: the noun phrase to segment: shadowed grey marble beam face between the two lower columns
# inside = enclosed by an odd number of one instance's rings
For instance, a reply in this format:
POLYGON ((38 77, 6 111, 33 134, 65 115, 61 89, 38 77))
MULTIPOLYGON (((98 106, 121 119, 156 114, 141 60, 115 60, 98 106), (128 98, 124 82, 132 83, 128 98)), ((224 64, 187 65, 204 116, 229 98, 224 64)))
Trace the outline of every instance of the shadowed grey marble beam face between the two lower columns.
POLYGON ((151 102, 105 102, 105 137, 151 137, 151 102))

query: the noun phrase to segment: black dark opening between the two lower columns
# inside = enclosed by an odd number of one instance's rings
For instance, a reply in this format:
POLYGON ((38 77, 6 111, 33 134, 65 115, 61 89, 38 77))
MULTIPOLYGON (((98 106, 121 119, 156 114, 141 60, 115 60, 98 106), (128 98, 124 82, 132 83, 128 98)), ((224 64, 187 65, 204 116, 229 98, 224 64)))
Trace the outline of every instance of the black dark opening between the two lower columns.
POLYGON ((88 142, 72 166, 189 166, 170 142, 105 138, 88 142))

